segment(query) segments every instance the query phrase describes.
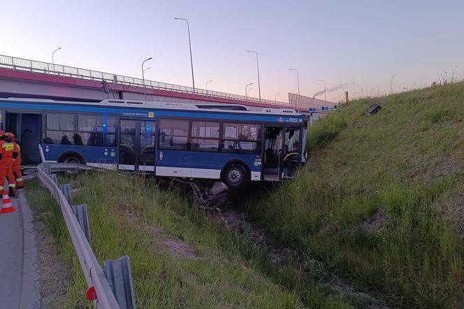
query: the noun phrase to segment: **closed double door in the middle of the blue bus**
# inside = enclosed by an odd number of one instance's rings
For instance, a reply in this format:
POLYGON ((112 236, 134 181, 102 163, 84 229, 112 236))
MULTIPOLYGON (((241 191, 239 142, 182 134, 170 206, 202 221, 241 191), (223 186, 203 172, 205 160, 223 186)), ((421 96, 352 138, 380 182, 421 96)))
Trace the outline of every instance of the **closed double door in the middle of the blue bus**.
POLYGON ((121 120, 119 125, 119 169, 154 172, 154 121, 121 120))

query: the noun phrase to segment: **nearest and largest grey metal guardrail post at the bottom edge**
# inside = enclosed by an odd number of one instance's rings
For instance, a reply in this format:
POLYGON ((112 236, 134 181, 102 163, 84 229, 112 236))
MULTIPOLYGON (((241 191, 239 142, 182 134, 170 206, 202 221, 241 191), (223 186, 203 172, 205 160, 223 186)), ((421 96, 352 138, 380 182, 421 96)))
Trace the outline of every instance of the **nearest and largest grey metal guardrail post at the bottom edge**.
POLYGON ((103 261, 103 271, 110 284, 119 308, 135 309, 136 300, 133 295, 131 261, 127 255, 119 259, 103 261))

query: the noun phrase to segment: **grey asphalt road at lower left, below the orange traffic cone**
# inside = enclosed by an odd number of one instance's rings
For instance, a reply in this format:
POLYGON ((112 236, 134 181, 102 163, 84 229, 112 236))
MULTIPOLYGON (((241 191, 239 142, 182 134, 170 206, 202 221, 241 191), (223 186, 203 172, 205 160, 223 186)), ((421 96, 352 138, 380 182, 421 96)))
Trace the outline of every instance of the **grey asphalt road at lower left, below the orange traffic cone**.
POLYGON ((0 308, 40 308, 31 210, 23 192, 11 202, 15 212, 0 214, 0 308))

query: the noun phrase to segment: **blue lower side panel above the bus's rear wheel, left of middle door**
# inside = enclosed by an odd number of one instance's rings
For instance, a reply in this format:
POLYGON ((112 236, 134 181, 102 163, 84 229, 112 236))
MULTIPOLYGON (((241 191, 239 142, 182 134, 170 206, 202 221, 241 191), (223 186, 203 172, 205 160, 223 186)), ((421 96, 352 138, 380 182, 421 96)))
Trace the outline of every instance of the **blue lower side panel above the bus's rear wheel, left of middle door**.
POLYGON ((66 152, 77 152, 82 155, 87 165, 113 168, 117 164, 117 148, 101 146, 76 146, 44 144, 45 160, 57 161, 66 152))

